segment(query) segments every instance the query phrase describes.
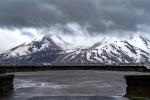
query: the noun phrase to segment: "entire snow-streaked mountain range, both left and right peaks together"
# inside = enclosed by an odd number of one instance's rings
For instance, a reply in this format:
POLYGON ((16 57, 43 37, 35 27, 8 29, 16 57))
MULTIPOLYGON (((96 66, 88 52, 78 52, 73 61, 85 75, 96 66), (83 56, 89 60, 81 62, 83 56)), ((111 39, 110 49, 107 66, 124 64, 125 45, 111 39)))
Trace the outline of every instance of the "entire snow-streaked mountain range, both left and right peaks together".
POLYGON ((73 48, 50 34, 0 54, 0 64, 150 63, 150 40, 138 34, 129 39, 103 38, 92 46, 73 48))

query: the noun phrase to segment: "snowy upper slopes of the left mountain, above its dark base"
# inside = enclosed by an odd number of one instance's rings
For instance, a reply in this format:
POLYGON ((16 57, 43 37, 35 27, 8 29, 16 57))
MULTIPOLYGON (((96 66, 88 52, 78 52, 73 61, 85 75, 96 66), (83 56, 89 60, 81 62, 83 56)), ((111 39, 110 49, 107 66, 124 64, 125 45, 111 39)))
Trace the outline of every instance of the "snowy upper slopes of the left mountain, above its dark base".
POLYGON ((31 43, 23 43, 15 48, 6 51, 3 57, 18 57, 23 55, 28 55, 31 53, 39 52, 41 50, 51 48, 51 49, 66 49, 70 44, 64 42, 61 38, 50 34, 46 36, 41 36, 40 38, 35 38, 31 43))

